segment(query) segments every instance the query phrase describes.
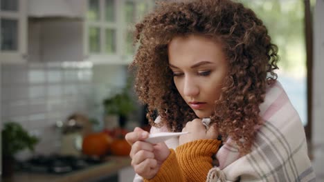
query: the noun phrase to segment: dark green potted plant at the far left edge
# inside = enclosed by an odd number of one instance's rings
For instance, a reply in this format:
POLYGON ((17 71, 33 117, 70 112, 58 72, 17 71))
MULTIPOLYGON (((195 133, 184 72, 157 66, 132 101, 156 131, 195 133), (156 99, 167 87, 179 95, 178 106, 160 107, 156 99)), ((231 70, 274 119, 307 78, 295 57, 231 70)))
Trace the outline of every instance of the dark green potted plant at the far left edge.
POLYGON ((33 151, 39 139, 35 136, 30 136, 19 123, 12 121, 4 123, 1 135, 3 176, 10 176, 13 172, 15 154, 26 148, 33 151))

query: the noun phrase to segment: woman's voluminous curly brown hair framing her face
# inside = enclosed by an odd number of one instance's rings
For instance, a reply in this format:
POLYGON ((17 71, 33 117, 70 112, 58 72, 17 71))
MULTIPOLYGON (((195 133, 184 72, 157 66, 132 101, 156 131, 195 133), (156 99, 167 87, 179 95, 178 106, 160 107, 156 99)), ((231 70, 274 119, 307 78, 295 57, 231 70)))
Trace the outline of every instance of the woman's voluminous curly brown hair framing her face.
POLYGON ((210 119, 223 138, 230 136, 246 154, 255 138, 255 127, 263 123, 259 105, 267 84, 277 79, 274 70, 278 69, 279 57, 267 28, 242 3, 161 2, 136 24, 134 37, 139 47, 130 68, 135 73, 139 100, 147 104, 147 119, 151 125, 166 125, 168 130, 179 132, 196 118, 174 85, 168 66, 168 43, 190 34, 222 43, 229 70, 210 119), (160 124, 154 123, 155 112, 161 117, 160 124))

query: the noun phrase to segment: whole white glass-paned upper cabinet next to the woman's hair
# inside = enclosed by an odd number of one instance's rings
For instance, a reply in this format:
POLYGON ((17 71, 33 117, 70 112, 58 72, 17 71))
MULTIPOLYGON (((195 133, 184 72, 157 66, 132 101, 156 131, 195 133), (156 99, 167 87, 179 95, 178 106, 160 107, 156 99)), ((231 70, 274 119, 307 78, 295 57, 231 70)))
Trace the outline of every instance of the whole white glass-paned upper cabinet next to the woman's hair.
POLYGON ((87 0, 84 53, 93 63, 132 61, 132 26, 153 8, 151 0, 87 0))

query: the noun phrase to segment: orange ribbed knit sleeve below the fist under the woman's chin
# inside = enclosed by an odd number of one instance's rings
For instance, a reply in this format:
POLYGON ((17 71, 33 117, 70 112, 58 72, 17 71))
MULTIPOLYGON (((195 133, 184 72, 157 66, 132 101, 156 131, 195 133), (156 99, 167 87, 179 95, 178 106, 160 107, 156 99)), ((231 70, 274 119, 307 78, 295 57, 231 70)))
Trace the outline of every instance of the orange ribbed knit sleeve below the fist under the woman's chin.
POLYGON ((213 168, 212 155, 219 148, 221 141, 201 139, 180 145, 176 149, 177 159, 185 181, 206 181, 206 176, 213 168))

